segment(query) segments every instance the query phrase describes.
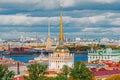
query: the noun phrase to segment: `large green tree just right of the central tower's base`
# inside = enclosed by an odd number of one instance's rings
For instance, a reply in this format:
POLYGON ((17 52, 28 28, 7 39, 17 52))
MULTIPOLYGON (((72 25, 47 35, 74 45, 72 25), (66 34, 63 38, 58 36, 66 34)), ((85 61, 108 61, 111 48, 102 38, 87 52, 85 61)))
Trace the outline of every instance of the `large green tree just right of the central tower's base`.
POLYGON ((83 62, 76 62, 71 69, 70 76, 77 80, 93 80, 93 73, 86 67, 83 62))

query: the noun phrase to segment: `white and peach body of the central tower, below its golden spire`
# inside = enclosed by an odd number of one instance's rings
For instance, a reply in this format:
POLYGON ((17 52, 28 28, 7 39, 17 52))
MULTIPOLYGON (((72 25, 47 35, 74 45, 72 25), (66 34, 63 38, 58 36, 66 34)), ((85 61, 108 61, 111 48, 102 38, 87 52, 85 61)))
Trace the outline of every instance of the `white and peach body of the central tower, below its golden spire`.
POLYGON ((60 70, 63 65, 73 67, 74 54, 69 53, 67 48, 58 47, 53 54, 49 55, 49 69, 60 70))

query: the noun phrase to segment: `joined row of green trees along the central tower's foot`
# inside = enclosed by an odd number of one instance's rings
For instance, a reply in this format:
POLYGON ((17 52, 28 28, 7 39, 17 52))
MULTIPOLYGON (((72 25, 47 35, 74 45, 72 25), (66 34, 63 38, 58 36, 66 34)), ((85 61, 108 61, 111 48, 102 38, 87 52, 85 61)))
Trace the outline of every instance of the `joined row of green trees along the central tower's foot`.
POLYGON ((93 80, 93 73, 83 62, 76 62, 72 68, 64 65, 62 72, 53 78, 44 76, 47 65, 31 64, 28 66, 28 70, 30 77, 26 80, 93 80))

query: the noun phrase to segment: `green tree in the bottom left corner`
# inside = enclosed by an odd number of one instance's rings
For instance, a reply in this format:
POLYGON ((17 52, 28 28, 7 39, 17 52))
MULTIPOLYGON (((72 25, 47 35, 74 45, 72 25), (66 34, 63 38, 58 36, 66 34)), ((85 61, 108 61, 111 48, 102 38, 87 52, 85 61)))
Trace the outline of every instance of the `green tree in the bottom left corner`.
POLYGON ((14 75, 14 72, 9 71, 7 66, 0 64, 0 80, 12 80, 14 75))

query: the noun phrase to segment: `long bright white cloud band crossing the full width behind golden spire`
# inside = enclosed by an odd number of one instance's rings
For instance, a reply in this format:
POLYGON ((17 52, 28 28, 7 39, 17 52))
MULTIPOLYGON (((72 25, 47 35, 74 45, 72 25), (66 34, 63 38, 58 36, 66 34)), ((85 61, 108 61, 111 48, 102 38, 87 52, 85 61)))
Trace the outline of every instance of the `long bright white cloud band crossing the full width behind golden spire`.
MULTIPOLYGON (((74 14, 75 15, 75 14, 74 14)), ((119 13, 101 13, 87 17, 63 16, 63 24, 74 27, 104 27, 119 26, 119 13)), ((59 16, 53 17, 33 17, 29 15, 0 15, 0 25, 47 25, 50 20, 51 25, 59 25, 59 16)))

